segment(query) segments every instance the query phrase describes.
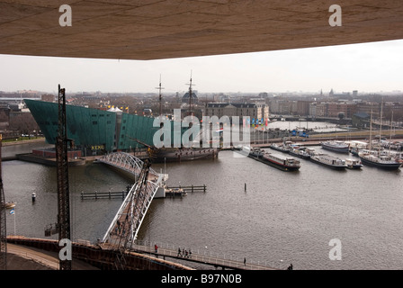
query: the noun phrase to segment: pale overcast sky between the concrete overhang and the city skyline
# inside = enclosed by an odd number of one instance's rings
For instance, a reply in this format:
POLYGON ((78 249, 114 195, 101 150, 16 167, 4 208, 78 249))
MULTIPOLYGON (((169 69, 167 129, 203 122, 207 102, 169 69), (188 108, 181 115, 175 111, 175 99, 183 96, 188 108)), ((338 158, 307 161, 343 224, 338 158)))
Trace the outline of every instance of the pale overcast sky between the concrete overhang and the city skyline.
POLYGON ((403 90, 403 40, 163 60, 0 55, 0 91, 70 92, 403 90))

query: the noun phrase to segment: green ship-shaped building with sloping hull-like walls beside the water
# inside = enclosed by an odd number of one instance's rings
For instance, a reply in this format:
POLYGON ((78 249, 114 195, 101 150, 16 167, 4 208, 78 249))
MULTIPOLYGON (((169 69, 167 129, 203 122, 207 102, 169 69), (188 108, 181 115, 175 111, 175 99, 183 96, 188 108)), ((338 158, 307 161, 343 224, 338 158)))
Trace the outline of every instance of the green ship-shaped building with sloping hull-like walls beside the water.
MULTIPOLYGON (((49 144, 58 135, 58 103, 24 99, 27 107, 49 144)), ((145 148, 135 139, 150 146, 154 133, 154 118, 121 111, 110 112, 67 104, 67 137, 85 155, 101 155, 114 150, 130 151, 145 148)))

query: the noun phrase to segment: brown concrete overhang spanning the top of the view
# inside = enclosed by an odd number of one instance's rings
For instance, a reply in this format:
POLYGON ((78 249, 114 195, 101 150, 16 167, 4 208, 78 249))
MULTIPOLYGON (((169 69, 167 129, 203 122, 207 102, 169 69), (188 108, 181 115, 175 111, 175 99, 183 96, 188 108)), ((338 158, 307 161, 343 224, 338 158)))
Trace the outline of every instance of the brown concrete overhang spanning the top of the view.
POLYGON ((397 39, 402 0, 0 0, 0 54, 157 59, 397 39), (342 26, 328 23, 332 4, 342 26))

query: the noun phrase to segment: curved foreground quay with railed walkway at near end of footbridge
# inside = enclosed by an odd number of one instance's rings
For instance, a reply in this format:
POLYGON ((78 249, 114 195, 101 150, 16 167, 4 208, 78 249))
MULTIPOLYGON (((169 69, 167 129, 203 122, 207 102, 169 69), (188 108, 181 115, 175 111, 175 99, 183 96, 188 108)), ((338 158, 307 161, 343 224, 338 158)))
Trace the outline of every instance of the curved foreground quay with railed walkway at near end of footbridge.
MULTIPOLYGON (((27 270, 58 269, 58 243, 56 240, 11 236, 7 238, 7 242, 9 254, 25 259, 25 261, 22 259, 13 259, 13 261, 23 263, 27 270)), ((143 269, 152 270, 193 270, 186 266, 186 263, 196 263, 223 270, 277 270, 267 266, 267 263, 249 262, 246 259, 232 258, 230 255, 206 255, 201 254, 199 250, 189 252, 191 253, 184 255, 182 252, 178 253, 175 247, 155 247, 151 243, 144 245, 144 243, 137 242, 130 251, 127 251, 126 261, 131 265, 126 266, 126 269, 138 270, 143 266, 143 269), (180 260, 181 263, 178 263, 177 260, 180 260)), ((73 267, 76 267, 77 270, 113 270, 116 268, 114 253, 116 253, 116 248, 108 244, 94 245, 87 241, 78 241, 73 243, 73 267)), ((18 270, 16 266, 9 266, 10 268, 18 270)))

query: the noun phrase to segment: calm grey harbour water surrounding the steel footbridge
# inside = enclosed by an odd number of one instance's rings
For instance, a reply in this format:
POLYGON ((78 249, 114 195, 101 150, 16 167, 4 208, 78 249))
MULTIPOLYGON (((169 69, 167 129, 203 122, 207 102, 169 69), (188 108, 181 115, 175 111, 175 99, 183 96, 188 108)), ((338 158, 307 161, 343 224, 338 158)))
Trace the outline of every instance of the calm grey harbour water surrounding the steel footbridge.
MULTIPOLYGON (((403 269, 403 172, 335 171, 300 161, 296 173, 231 151, 166 164, 168 184, 206 184, 207 192, 155 199, 139 239, 294 269, 403 269), (342 260, 329 259, 332 238, 342 243, 342 260)), ((130 181, 96 164, 69 171, 72 237, 103 238, 121 200, 83 202, 79 195, 121 191, 130 181)), ((8 234, 15 227, 18 235, 45 238, 45 225, 56 222, 55 168, 4 162, 3 178, 5 200, 17 202, 15 217, 7 215, 8 234)))

